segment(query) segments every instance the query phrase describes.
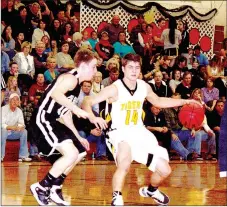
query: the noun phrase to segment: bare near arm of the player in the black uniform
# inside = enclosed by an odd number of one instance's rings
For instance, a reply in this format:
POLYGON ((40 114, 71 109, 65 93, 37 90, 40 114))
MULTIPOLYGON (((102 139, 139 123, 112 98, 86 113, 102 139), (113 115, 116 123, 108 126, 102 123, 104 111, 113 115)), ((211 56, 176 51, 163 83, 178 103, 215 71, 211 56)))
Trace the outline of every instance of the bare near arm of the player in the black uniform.
POLYGON ((58 78, 56 86, 51 93, 51 97, 60 105, 67 107, 78 117, 87 118, 88 114, 72 103, 65 93, 73 90, 77 85, 77 78, 71 74, 63 74, 58 78))

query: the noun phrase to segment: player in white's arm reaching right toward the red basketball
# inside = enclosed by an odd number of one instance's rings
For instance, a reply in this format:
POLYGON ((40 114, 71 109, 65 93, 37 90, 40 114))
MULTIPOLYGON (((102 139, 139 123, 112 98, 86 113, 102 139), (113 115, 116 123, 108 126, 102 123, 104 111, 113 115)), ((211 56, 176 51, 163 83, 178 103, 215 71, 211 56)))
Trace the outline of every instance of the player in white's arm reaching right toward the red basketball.
MULTIPOLYGON (((173 99, 166 97, 157 96, 152 88, 147 84, 147 97, 146 99, 153 105, 158 106, 160 108, 171 108, 176 106, 182 106, 184 104, 197 103, 201 105, 198 101, 193 99, 173 99)), ((201 105, 202 107, 202 105, 201 105)))

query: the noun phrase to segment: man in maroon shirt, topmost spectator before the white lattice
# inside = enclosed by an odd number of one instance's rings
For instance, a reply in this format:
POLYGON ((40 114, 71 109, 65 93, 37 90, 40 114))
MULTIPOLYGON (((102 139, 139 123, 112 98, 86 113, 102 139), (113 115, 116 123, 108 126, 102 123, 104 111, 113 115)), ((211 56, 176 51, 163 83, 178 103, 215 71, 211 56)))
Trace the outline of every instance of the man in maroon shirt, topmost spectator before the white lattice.
MULTIPOLYGON (((118 41, 118 34, 120 32, 124 32, 125 29, 124 27, 122 27, 120 24, 120 17, 118 15, 114 15, 112 18, 112 23, 111 24, 107 24, 107 26, 105 26, 102 30, 101 30, 101 34, 103 31, 108 32, 109 34, 109 41, 110 43, 113 45, 115 42, 118 41)), ((102 35, 101 35, 102 36, 102 35)))

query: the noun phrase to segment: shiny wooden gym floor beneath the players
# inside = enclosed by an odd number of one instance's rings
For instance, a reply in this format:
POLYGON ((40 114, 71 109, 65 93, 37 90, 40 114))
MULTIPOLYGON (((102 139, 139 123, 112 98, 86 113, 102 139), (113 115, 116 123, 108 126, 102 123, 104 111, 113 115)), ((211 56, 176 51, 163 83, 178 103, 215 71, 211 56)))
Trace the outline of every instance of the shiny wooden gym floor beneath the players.
MULTIPOLYGON (((160 187, 170 197, 169 205, 227 205, 226 178, 219 178, 217 162, 171 161, 170 164, 172 174, 160 187)), ((47 162, 1 163, 1 206, 38 205, 29 186, 40 181, 49 168, 47 162)), ((65 200, 73 206, 110 206, 115 168, 113 161, 80 162, 64 183, 65 200)), ((138 193, 141 186, 149 183, 149 175, 145 166, 132 164, 123 190, 125 205, 156 205, 151 198, 140 197, 138 193)))

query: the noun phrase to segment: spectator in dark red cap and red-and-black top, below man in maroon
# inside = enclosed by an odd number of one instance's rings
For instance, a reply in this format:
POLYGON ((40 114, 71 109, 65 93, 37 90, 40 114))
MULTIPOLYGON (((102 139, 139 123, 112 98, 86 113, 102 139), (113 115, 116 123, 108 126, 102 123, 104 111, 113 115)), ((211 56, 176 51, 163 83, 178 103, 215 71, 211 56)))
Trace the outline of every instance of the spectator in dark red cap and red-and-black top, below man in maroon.
POLYGON ((114 48, 109 41, 109 34, 107 31, 102 31, 101 39, 96 44, 95 50, 104 61, 109 60, 113 56, 114 48))

